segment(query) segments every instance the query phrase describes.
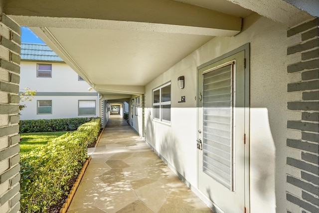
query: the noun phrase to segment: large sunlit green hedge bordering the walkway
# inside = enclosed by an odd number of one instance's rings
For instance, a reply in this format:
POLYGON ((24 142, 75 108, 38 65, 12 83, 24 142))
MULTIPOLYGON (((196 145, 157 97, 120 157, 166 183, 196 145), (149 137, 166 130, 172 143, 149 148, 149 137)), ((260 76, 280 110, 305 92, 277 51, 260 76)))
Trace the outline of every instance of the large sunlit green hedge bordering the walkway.
POLYGON ((87 159, 88 143, 97 139, 100 118, 81 125, 47 145, 21 154, 21 212, 43 213, 70 189, 67 182, 78 175, 87 159))

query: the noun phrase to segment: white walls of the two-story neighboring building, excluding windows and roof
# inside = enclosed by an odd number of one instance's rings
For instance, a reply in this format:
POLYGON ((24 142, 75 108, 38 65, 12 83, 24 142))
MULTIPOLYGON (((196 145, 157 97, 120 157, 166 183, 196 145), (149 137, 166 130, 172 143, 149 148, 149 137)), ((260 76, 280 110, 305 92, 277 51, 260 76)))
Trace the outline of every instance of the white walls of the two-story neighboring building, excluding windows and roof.
MULTIPOLYGON (((43 62, 39 62, 43 63, 43 62)), ((96 93, 92 90, 88 91, 90 85, 85 81, 78 80, 78 74, 65 63, 50 63, 52 64, 51 78, 36 77, 37 62, 21 61, 20 64, 20 92, 23 88, 29 87, 31 90, 36 90, 37 95, 33 96, 31 102, 25 101, 20 104, 26 105, 20 113, 21 120, 28 119, 52 119, 52 118, 76 118, 76 117, 98 117, 100 115, 99 96, 90 95, 46 95, 39 96, 41 92, 81 92, 81 93, 96 93), (52 100, 52 114, 37 114, 37 100, 52 100), (78 115, 79 100, 95 100, 96 113, 95 115, 78 115)))

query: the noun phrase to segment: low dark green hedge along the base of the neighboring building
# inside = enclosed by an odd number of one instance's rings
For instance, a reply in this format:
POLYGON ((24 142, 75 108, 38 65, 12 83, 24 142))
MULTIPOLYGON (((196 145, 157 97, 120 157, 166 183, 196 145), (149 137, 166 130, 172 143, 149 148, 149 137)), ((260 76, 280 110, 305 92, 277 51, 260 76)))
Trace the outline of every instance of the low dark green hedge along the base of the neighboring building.
POLYGON ((20 120, 20 133, 28 132, 60 132, 76 130, 80 125, 91 121, 93 118, 61 118, 20 120))

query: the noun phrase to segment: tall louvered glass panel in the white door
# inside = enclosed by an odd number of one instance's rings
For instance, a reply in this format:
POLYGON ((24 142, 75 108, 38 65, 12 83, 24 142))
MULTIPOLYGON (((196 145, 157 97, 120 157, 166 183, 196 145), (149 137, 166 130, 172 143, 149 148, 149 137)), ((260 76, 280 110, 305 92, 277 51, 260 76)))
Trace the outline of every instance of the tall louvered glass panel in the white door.
POLYGON ((203 81, 203 172, 233 191, 233 64, 203 81))

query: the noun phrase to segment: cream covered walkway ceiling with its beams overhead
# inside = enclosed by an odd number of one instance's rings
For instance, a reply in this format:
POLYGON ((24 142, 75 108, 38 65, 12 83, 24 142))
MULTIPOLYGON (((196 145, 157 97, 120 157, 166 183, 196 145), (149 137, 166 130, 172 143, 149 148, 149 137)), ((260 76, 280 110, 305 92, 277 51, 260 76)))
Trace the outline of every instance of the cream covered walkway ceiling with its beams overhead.
POLYGON ((253 11, 287 27, 313 18, 284 0, 4 0, 3 11, 108 98, 145 93, 214 36, 239 33, 253 11))

